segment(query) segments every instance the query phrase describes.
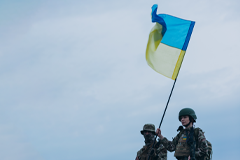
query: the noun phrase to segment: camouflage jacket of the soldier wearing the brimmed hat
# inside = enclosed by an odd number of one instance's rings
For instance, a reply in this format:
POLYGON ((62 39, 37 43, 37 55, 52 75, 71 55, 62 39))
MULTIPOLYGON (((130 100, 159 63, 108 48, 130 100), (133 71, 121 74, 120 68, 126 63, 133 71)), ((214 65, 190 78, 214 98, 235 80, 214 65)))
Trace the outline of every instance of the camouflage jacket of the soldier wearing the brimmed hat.
MULTIPOLYGON (((138 160, 148 160, 151 147, 152 144, 144 145, 143 148, 137 152, 136 160, 137 158, 138 160)), ((157 142, 152 150, 154 150, 154 153, 150 156, 150 160, 167 160, 167 150, 162 144, 157 142)))

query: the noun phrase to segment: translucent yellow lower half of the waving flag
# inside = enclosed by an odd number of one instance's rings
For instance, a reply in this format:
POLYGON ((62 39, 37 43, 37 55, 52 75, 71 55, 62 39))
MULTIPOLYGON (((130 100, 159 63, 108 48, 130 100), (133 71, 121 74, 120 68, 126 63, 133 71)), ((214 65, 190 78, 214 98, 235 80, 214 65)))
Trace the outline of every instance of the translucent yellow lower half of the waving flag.
POLYGON ((149 34, 146 60, 156 72, 175 80, 186 51, 161 43, 162 37, 162 25, 156 23, 149 34))

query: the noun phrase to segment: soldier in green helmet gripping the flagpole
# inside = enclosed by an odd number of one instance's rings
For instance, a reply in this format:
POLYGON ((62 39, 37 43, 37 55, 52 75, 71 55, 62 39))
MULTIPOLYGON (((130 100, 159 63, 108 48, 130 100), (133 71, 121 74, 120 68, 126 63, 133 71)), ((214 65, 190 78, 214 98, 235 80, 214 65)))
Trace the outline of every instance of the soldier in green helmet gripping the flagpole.
POLYGON ((200 128, 194 128, 197 116, 193 109, 184 108, 179 112, 179 121, 182 126, 178 130, 177 136, 169 141, 163 137, 158 128, 156 133, 160 138, 161 144, 170 152, 175 151, 174 156, 178 160, 204 160, 207 155, 207 141, 204 132, 200 128))

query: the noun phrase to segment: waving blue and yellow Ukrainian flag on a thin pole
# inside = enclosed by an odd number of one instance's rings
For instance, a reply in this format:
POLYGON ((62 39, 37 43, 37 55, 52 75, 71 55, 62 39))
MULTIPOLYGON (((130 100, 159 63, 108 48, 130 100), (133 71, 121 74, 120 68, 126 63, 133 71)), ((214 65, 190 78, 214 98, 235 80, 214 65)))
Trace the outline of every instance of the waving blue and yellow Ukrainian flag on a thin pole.
POLYGON ((157 5, 152 6, 152 28, 146 60, 156 72, 175 80, 193 31, 195 22, 167 14, 157 15, 157 5))

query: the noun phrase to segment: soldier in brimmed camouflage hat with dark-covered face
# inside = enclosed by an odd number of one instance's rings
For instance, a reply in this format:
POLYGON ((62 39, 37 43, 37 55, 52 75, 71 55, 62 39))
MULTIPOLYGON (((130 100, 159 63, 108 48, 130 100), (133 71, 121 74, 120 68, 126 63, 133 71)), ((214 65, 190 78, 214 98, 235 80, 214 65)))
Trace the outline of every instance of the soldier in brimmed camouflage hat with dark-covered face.
POLYGON ((162 144, 155 142, 155 145, 152 148, 156 135, 155 126, 153 124, 145 124, 141 134, 145 139, 145 145, 137 152, 135 160, 148 160, 149 155, 149 160, 167 160, 167 150, 162 144))

